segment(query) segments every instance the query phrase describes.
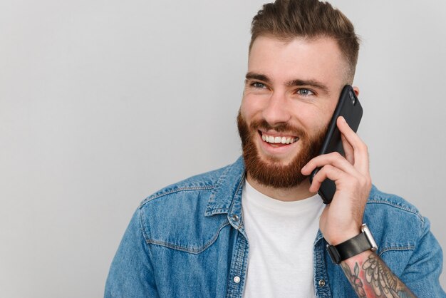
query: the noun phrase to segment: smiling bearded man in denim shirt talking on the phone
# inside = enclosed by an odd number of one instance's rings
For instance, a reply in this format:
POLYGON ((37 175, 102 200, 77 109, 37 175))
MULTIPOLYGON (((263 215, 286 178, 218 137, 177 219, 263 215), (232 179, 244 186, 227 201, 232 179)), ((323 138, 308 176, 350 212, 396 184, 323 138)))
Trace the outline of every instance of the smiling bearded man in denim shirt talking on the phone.
POLYGON ((105 296, 445 297, 429 222, 372 186, 367 147, 343 118, 345 157, 316 156, 353 83, 351 22, 330 4, 277 0, 251 33, 243 158, 142 201, 105 296), (336 183, 330 205, 317 195, 326 178, 336 183))

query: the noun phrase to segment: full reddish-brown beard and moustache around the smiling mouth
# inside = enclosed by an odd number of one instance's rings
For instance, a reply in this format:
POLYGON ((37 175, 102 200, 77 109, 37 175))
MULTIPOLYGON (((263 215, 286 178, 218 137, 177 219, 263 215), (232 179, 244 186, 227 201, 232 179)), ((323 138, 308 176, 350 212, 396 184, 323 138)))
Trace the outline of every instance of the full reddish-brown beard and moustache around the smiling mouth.
POLYGON ((294 127, 288 123, 271 126, 263 119, 254 120, 251 124, 248 124, 240 111, 239 115, 237 115, 237 127, 242 140, 243 158, 247 173, 261 185, 274 188, 294 187, 306 180, 308 176, 301 173, 301 168, 311 158, 318 155, 326 133, 326 129, 323 129, 310 136, 301 128, 294 127), (299 150, 291 163, 281 165, 280 159, 272 156, 261 158, 254 142, 254 138, 258 138, 260 128, 264 130, 274 129, 278 133, 286 132, 299 137, 297 142, 301 143, 301 150, 299 150))

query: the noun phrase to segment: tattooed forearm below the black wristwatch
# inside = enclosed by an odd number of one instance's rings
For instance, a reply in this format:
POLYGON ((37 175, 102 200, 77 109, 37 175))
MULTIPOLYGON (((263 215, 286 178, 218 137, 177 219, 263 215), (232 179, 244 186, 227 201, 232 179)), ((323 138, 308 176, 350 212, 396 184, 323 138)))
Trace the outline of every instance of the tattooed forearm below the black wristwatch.
POLYGON ((358 297, 415 297, 375 253, 352 257, 341 267, 358 297))

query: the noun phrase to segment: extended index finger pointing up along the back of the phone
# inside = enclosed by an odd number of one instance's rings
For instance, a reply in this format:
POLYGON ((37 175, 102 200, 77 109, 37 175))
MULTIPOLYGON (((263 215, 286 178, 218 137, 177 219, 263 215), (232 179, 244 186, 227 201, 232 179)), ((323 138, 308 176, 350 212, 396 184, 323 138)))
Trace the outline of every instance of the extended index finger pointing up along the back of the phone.
POLYGON ((367 145, 359 138, 359 136, 348 126, 348 123, 343 117, 338 117, 336 124, 339 131, 344 135, 347 142, 353 148, 354 166, 361 171, 361 173, 368 173, 368 149, 367 145))

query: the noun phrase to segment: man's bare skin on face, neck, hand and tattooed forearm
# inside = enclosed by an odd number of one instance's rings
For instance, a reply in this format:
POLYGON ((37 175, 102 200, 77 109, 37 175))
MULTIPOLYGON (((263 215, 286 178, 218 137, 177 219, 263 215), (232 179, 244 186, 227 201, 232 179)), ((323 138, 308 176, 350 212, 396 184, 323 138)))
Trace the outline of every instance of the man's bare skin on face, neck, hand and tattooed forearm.
MULTIPOLYGON (((332 38, 283 41, 273 36, 259 36, 249 53, 240 113, 248 124, 261 119, 273 127, 289 123, 314 135, 326 127, 341 89, 349 83, 346 70, 346 61, 332 38)), ((358 88, 353 89, 358 95, 358 88)), ((321 167, 311 185, 307 179, 296 187, 277 189, 261 185, 247 173, 249 184, 256 190, 283 201, 304 200, 316 194, 323 180, 333 180, 336 193, 331 204, 323 210, 319 222, 323 237, 331 245, 338 245, 361 232, 365 203, 371 188, 367 146, 342 117, 336 124, 341 131, 346 156, 330 153, 310 160, 301 169, 304 175, 310 175, 315 168, 321 167)), ((292 136, 292 133, 278 133, 274 129, 259 131, 254 143, 266 163, 288 165, 299 154, 299 140, 291 145, 271 145, 261 139, 262 133, 274 136, 292 136)), ((358 297, 383 297, 380 296, 383 289, 373 287, 374 280, 367 278, 370 262, 380 264, 382 268, 378 284, 386 284, 384 279, 392 277, 386 287, 395 295, 388 297, 415 297, 371 251, 341 263, 358 297)))

